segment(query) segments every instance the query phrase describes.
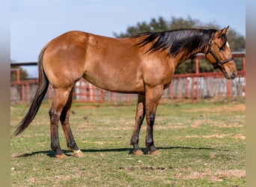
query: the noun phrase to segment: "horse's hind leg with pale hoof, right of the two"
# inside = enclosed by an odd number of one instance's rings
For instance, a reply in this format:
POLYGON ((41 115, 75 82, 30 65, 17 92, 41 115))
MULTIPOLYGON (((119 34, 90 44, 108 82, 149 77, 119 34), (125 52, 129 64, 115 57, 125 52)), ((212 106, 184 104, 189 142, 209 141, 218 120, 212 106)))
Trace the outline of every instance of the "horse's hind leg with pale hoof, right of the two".
POLYGON ((62 112, 61 112, 61 126, 67 141, 67 148, 70 150, 73 150, 74 156, 82 157, 84 154, 76 145, 76 141, 73 138, 72 131, 70 129, 70 108, 72 104, 72 97, 73 97, 73 89, 70 91, 70 96, 67 100, 67 104, 64 106, 62 112))

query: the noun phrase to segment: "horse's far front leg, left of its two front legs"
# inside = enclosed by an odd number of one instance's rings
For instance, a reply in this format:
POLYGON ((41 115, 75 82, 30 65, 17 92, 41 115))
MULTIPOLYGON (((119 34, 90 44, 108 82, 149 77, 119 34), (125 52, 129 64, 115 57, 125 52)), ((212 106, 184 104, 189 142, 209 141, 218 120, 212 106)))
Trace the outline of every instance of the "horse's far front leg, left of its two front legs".
POLYGON ((145 116, 145 96, 138 95, 138 103, 135 114, 135 126, 133 129, 131 145, 133 146, 132 153, 134 155, 143 155, 141 148, 138 146, 138 137, 145 116))

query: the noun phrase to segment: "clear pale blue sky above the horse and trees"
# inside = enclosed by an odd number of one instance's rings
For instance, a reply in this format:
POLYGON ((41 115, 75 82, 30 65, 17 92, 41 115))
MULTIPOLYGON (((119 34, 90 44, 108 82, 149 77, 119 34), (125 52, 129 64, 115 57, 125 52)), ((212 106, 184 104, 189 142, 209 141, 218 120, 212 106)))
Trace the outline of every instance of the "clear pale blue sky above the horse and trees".
MULTIPOLYGON (((190 16, 202 23, 230 25, 246 36, 246 1, 234 0, 10 0, 10 59, 37 61, 43 46, 67 31, 114 37, 138 22, 190 16)), ((37 67, 22 67, 37 77, 37 67)))

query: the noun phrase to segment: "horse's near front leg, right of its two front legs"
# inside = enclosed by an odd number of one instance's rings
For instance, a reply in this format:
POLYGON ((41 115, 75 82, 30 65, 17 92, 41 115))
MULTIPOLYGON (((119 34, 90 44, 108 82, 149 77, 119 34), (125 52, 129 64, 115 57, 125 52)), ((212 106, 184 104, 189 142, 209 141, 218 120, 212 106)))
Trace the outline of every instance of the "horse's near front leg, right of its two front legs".
POLYGON ((156 117, 156 108, 162 96, 163 88, 158 86, 156 88, 147 88, 146 90, 146 120, 147 120, 147 134, 146 146, 150 154, 159 154, 153 142, 153 124, 156 117))

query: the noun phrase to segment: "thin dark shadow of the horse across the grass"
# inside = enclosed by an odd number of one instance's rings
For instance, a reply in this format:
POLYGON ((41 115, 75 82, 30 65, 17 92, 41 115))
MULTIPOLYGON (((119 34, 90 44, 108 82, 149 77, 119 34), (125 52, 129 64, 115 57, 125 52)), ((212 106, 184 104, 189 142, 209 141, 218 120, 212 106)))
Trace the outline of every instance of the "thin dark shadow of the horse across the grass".
MULTIPOLYGON (((181 149, 181 150, 216 150, 215 148, 210 147, 157 147, 159 150, 174 150, 174 149, 181 149)), ((148 150, 147 148, 141 148, 142 152, 147 155, 148 150)), ((73 156, 73 151, 71 150, 63 150, 63 152, 67 156, 73 156)), ((115 149, 88 149, 88 150, 82 150, 83 153, 111 153, 111 152, 128 152, 129 154, 132 154, 132 148, 115 148, 115 149)), ((22 153, 17 154, 16 156, 11 156, 12 159, 18 158, 18 157, 28 157, 28 156, 34 156, 37 154, 44 154, 49 157, 55 157, 55 152, 52 150, 40 150, 40 151, 34 151, 31 153, 22 153)))

